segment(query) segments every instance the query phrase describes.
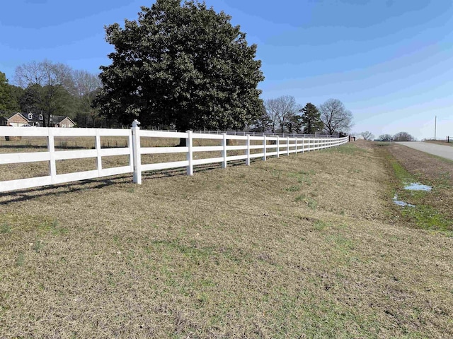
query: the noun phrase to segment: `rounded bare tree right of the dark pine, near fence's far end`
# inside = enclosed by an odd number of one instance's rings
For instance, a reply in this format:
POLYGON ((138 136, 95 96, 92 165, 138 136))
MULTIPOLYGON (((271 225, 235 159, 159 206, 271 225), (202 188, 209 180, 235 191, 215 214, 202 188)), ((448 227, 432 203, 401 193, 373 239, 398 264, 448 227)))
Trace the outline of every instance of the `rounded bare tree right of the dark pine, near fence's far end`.
POLYGON ((324 130, 333 134, 335 132, 348 132, 352 126, 352 112, 345 108, 338 99, 329 99, 319 106, 324 130))

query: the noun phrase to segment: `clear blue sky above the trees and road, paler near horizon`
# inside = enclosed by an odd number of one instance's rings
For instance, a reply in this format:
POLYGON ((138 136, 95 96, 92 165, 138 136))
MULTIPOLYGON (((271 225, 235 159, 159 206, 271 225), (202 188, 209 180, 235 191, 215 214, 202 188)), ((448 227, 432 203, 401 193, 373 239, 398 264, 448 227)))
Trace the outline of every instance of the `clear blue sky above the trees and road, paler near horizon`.
MULTIPOLYGON (((134 20, 136 0, 16 0, 0 6, 0 71, 50 59, 98 73, 112 47, 104 25, 134 20)), ((207 0, 232 16, 263 61, 263 99, 333 97, 352 131, 453 135, 451 0, 207 0)))

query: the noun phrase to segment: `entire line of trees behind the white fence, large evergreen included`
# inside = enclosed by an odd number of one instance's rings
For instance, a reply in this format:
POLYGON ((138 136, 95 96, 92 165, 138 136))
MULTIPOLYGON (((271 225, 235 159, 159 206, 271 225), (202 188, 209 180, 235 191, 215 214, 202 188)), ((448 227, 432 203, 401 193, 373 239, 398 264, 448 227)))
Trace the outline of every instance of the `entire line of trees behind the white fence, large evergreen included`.
POLYGON ((16 85, 0 74, 0 112, 68 115, 77 126, 129 125, 333 134, 352 113, 340 100, 304 107, 294 97, 262 100, 256 44, 231 16, 204 2, 156 0, 137 20, 105 27, 114 52, 99 76, 52 61, 18 66, 16 85))

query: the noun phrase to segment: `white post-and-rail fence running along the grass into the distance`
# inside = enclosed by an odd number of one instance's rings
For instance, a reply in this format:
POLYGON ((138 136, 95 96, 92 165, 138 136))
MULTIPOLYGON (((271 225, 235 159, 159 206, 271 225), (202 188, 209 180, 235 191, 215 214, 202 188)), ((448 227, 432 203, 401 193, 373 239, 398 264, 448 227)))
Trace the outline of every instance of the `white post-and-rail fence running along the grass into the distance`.
POLYGON ((250 165, 250 160, 260 157, 266 160, 268 157, 290 153, 304 153, 312 150, 331 148, 348 142, 345 138, 281 138, 280 136, 231 136, 223 133, 222 135, 213 135, 205 133, 193 133, 187 131, 181 132, 164 132, 164 131, 146 131, 139 129, 138 121, 134 121, 132 129, 60 129, 60 128, 23 128, 23 127, 3 127, 0 126, 0 138, 4 136, 22 136, 22 137, 46 137, 47 152, 33 153, 1 153, 0 146, 0 165, 17 164, 23 162, 49 162, 49 175, 45 177, 33 177, 28 179, 15 179, 0 182, 0 192, 13 191, 18 189, 28 189, 37 186, 52 184, 62 184, 65 182, 75 182, 85 179, 99 177, 108 177, 117 174, 133 173, 134 183, 142 183, 142 172, 186 167, 187 174, 193 175, 193 167, 196 165, 212 164, 221 162, 222 167, 226 167, 229 161, 245 160, 246 165, 250 165), (59 150, 55 151, 55 137, 80 137, 90 136, 95 138, 95 148, 92 150, 59 150), (121 136, 127 137, 127 147, 120 148, 101 148, 101 136, 121 136), (185 147, 141 147, 140 138, 185 138, 185 147), (194 139, 214 139, 221 141, 221 145, 214 146, 194 146, 194 139), (245 145, 227 145, 227 140, 245 141, 245 145), (253 145, 251 141, 258 141, 258 145, 253 145), (268 144, 268 141, 273 143, 268 144), (228 156, 229 150, 241 150, 243 155, 228 156), (258 150, 260 153, 252 153, 251 150, 258 150), (220 157, 211 157, 207 159, 194 159, 197 152, 220 151, 220 157), (186 160, 176 162, 159 162, 152 164, 143 164, 142 155, 145 154, 168 154, 168 153, 185 153, 186 160), (128 155, 129 165, 102 168, 102 157, 113 155, 128 155), (97 169, 74 172, 67 174, 57 174, 57 160, 96 158, 97 169))

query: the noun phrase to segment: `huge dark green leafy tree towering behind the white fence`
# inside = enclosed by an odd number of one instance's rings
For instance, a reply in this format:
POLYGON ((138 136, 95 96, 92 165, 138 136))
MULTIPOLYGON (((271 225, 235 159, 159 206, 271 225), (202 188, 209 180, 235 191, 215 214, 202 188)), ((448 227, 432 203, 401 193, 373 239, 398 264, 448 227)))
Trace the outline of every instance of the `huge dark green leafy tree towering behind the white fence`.
POLYGON ((256 45, 224 12, 198 1, 157 0, 137 20, 105 28, 115 47, 101 66, 103 114, 123 124, 243 129, 260 114, 256 45))

